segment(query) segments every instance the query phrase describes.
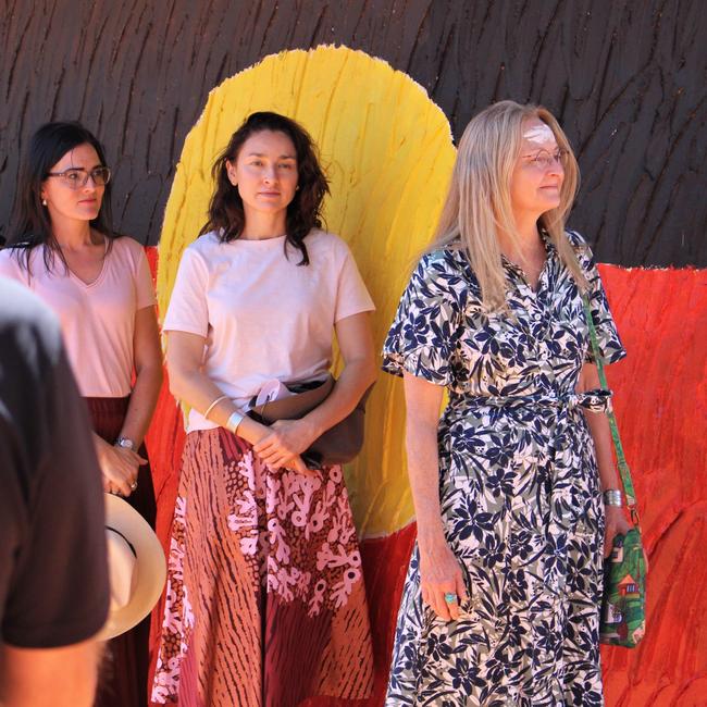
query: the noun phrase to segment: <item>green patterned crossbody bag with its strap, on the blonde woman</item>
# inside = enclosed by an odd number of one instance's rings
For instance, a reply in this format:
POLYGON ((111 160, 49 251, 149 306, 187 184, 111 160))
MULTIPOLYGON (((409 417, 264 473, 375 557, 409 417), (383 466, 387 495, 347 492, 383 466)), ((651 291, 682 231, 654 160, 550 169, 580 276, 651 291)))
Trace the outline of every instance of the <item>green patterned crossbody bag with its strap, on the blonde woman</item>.
MULTIPOLYGON (((604 372, 604 362, 599 355, 592 311, 586 298, 583 297, 582 300, 590 327, 594 361, 599 373, 599 382, 601 387, 608 390, 609 386, 604 372)), ((634 648, 638 645, 646 631, 646 563, 641 541, 636 495, 611 407, 609 407, 607 415, 633 528, 625 535, 617 535, 613 538, 611 555, 604 562, 604 596, 599 620, 599 641, 612 646, 634 648)))

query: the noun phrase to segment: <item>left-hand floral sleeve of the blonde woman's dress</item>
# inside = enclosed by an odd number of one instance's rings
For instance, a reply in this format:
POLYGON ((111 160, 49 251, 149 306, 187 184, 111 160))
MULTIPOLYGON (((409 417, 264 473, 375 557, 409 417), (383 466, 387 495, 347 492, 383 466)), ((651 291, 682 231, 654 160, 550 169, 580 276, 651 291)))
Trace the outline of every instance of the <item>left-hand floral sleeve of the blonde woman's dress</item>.
POLYGON ((383 370, 450 385, 467 297, 468 283, 451 251, 423 256, 385 339, 383 370))

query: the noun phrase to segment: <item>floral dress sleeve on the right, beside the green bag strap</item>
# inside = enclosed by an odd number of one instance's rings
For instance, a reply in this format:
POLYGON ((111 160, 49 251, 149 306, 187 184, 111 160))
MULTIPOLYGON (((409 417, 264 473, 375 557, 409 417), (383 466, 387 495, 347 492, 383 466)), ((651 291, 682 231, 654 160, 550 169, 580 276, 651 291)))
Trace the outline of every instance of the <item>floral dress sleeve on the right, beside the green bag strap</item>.
MULTIPOLYGON (((580 263, 584 269, 586 278, 590 283, 590 292, 587 299, 590 302, 590 310, 592 312, 592 320, 594 321, 594 328, 596 330, 597 345, 601 361, 604 363, 615 363, 625 357, 627 352, 619 337, 619 332, 609 308, 609 301, 601 283, 599 270, 594 261, 592 249, 586 244, 584 238, 575 232, 569 232, 568 237, 575 248, 580 263)), ((594 362, 594 354, 592 345, 590 344, 585 356, 587 362, 594 362)))

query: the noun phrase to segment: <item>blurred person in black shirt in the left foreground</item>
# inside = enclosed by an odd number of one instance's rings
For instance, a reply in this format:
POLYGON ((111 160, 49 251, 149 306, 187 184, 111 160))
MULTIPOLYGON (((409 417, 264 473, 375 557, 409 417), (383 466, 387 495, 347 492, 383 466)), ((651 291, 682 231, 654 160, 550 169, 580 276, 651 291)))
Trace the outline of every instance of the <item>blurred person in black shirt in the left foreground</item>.
POLYGON ((101 473, 59 322, 0 278, 0 704, 92 703, 109 606, 101 473))

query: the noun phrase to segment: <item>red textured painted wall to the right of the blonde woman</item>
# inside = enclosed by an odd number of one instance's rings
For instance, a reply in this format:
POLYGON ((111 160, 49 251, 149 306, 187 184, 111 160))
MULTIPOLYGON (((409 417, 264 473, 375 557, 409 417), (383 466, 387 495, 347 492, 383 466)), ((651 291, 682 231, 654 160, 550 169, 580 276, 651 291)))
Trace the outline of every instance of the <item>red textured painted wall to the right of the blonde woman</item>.
POLYGON ((609 367, 650 559, 646 637, 603 653, 607 704, 707 705, 707 271, 601 277, 629 356, 609 367))

